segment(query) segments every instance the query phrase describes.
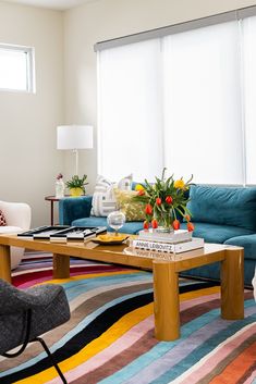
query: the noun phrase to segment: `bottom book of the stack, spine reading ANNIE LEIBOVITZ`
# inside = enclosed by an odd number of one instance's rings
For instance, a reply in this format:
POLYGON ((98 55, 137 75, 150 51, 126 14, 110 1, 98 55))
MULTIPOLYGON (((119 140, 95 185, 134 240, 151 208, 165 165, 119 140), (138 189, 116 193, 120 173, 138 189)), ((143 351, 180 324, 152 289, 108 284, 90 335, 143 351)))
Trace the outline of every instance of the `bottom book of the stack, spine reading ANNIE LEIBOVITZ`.
POLYGON ((134 248, 155 250, 159 252, 168 253, 181 253, 188 250, 203 248, 204 238, 193 237, 191 240, 183 243, 162 243, 162 241, 149 241, 143 239, 133 239, 130 245, 134 248))

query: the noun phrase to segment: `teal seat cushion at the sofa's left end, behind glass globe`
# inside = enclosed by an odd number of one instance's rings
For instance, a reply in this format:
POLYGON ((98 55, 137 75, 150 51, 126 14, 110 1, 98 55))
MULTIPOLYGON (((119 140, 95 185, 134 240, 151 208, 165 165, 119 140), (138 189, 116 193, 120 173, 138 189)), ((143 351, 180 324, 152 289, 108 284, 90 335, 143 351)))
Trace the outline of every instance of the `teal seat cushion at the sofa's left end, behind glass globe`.
MULTIPOLYGON (((77 219, 72 222, 72 225, 77 226, 107 226, 108 232, 113 232, 112 228, 108 226, 107 218, 85 218, 77 219)), ((119 230, 120 233, 137 234, 138 231, 143 230, 143 222, 130 222, 125 223, 122 228, 119 230)))

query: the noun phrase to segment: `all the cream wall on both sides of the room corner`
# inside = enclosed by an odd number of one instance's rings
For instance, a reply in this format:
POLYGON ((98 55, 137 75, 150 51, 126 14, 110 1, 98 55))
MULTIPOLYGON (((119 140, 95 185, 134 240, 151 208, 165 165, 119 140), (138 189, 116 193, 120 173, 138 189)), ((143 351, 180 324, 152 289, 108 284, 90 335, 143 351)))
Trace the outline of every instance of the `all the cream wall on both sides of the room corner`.
MULTIPOLYGON (((28 202, 33 226, 49 223, 44 198, 54 193, 57 173, 65 179, 74 173, 72 153, 56 149, 56 126, 92 124, 97 139, 94 44, 253 4, 256 0, 96 0, 62 13, 0 1, 0 42, 35 47, 37 88, 35 95, 0 91, 0 199, 28 202)), ((94 150, 80 152, 88 191, 96 170, 95 143, 94 150)))

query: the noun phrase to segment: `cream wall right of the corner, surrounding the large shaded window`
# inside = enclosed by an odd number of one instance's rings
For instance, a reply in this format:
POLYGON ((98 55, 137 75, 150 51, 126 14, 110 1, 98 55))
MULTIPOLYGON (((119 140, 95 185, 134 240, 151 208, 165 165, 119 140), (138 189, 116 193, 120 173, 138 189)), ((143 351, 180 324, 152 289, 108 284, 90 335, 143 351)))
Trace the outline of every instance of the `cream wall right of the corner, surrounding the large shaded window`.
MULTIPOLYGON (((255 0, 98 0, 69 10, 64 14, 66 122, 97 128, 96 42, 254 4, 255 0)), ((66 174, 72 173, 71 160, 65 157, 66 174)), ((93 151, 82 153, 80 165, 92 190, 96 144, 93 151)))

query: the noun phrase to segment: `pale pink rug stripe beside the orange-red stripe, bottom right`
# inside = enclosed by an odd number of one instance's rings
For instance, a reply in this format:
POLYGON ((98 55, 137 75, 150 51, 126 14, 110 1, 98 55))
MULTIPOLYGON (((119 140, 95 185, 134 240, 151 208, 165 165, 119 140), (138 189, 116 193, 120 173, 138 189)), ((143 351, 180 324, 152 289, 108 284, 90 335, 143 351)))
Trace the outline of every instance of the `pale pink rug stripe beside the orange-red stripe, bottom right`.
POLYGON ((219 345, 209 357, 192 368, 191 374, 186 374, 184 380, 178 382, 180 384, 198 383, 204 376, 211 372, 227 356, 234 351, 246 338, 254 335, 256 332, 256 324, 247 326, 244 332, 232 336, 227 343, 219 345))

